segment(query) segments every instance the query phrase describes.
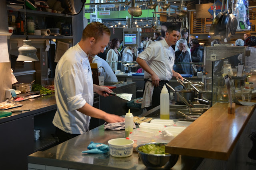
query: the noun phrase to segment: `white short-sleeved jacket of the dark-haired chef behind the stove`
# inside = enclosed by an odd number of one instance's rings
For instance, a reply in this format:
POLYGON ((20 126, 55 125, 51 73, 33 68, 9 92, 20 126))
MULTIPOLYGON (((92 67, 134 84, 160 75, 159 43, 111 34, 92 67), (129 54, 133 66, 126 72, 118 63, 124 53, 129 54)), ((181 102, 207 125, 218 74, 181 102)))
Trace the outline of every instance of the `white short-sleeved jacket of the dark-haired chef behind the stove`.
MULTIPOLYGON (((138 57, 147 62, 160 80, 172 79, 175 53, 165 39, 151 43, 138 57)), ((145 71, 144 78, 151 78, 151 75, 145 71)))

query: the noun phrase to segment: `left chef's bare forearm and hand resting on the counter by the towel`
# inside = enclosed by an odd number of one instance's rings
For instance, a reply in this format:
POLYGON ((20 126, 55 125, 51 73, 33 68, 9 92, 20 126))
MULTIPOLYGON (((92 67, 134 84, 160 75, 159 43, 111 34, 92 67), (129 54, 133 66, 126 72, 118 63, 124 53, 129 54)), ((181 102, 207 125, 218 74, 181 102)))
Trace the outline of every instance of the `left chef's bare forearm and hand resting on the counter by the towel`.
POLYGON ((103 119, 104 121, 108 123, 115 123, 115 122, 123 122, 124 117, 120 117, 118 115, 109 114, 105 111, 102 111, 100 109, 97 109, 95 107, 90 106, 90 104, 86 103, 83 107, 80 109, 77 109, 77 111, 80 111, 81 113, 88 115, 90 117, 95 117, 98 119, 103 119))

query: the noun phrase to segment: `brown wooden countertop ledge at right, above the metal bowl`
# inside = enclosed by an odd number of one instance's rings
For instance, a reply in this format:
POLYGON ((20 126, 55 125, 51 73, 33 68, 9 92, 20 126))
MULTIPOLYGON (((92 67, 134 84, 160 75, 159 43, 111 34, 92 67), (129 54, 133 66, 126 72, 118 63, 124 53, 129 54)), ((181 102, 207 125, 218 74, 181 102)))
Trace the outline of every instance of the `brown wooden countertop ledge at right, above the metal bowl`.
POLYGON ((166 145, 166 152, 228 160, 256 105, 236 104, 235 114, 228 114, 227 106, 216 103, 208 109, 166 145))

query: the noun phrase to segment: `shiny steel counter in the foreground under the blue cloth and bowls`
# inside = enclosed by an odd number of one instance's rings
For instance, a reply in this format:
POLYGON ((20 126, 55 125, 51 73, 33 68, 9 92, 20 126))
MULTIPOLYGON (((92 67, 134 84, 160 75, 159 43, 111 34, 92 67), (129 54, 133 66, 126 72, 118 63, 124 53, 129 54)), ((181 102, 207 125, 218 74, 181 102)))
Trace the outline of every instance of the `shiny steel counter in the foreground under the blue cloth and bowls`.
MULTIPOLYGON (((56 166, 63 168, 82 169, 132 169, 146 170, 137 152, 125 158, 116 158, 109 153, 106 154, 84 154, 91 141, 108 145, 108 140, 124 138, 124 130, 104 130, 103 125, 92 129, 82 135, 70 139, 60 145, 52 147, 43 152, 35 152, 28 156, 28 163, 56 166)), ((180 156, 178 162, 172 169, 194 169, 201 163, 202 158, 180 156), (186 163, 185 163, 186 162, 186 163)))

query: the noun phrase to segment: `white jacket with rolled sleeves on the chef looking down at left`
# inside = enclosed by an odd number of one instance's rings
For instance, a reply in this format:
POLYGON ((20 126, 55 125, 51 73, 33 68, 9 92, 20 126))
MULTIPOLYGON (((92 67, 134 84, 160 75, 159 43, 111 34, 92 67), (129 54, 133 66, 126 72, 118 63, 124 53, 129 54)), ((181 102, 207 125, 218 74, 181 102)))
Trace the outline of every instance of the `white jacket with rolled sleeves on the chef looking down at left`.
POLYGON ((77 111, 93 104, 92 70, 88 55, 78 43, 64 53, 56 66, 55 97, 57 111, 52 123, 62 131, 82 134, 89 130, 90 116, 77 111))

